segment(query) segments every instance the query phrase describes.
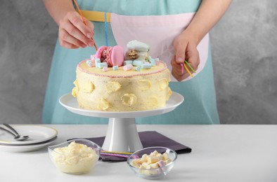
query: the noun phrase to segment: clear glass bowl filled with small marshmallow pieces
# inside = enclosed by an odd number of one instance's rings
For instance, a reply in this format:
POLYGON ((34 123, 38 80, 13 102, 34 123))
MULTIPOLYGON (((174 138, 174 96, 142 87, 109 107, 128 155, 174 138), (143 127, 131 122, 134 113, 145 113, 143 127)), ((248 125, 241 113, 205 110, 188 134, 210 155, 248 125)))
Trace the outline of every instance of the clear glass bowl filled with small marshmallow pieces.
POLYGON ((177 154, 170 148, 155 146, 132 153, 127 164, 137 176, 144 179, 161 179, 173 168, 177 154))

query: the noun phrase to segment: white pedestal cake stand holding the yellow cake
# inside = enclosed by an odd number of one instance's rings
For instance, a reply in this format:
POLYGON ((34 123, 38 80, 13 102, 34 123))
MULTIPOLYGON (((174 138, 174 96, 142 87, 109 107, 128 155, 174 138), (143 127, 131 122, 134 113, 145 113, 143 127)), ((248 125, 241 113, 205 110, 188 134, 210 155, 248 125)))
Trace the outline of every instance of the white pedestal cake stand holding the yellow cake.
POLYGON ((183 102, 183 96, 176 92, 167 101, 165 107, 150 111, 91 111, 82 109, 77 103, 77 99, 70 93, 60 97, 60 104, 72 113, 83 116, 109 118, 108 131, 103 143, 103 150, 116 152, 134 152, 143 148, 139 134, 136 130, 136 117, 156 116, 168 113, 183 102))

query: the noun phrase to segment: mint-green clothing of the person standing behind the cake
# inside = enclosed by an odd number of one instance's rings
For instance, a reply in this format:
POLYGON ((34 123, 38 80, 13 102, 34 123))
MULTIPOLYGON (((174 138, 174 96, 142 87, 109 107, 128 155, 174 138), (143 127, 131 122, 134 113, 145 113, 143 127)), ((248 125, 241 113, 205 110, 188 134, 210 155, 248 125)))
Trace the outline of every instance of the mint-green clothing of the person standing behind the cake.
MULTIPOLYGON (((199 0, 95 0, 77 1, 82 10, 95 10, 120 15, 173 15, 192 13, 198 10, 199 0)), ((100 47, 105 45, 105 25, 94 22, 94 41, 100 47)), ((116 45, 108 23, 108 44, 116 45)), ((57 41, 42 114, 43 123, 51 124, 100 124, 108 123, 108 118, 79 116, 67 111, 58 99, 71 92, 76 78, 77 64, 94 55, 95 48, 79 48, 75 50, 62 48, 57 41)), ((169 83, 172 91, 183 94, 184 102, 174 111, 160 116, 136 118, 136 123, 145 124, 219 124, 216 94, 212 70, 211 51, 205 68, 193 79, 186 82, 169 83)))

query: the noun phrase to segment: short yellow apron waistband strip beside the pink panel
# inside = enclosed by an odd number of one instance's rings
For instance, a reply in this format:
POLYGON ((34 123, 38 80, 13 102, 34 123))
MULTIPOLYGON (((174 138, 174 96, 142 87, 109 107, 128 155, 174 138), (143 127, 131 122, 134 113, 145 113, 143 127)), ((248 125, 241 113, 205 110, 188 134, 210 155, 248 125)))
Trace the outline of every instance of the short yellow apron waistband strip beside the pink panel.
MULTIPOLYGON (((94 22, 105 22, 105 12, 81 10, 84 18, 94 22)), ((110 13, 106 13, 107 22, 110 22, 110 13)))

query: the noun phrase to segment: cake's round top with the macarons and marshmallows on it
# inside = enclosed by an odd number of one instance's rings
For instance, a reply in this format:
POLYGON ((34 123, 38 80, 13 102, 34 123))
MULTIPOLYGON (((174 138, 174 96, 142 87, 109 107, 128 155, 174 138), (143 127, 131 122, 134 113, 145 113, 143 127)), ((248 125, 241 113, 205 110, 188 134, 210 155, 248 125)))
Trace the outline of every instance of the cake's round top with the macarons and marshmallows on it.
POLYGON ((150 47, 141 41, 129 41, 127 51, 120 45, 101 46, 91 59, 77 65, 77 71, 94 76, 131 78, 147 76, 167 70, 167 64, 149 55, 150 47))

